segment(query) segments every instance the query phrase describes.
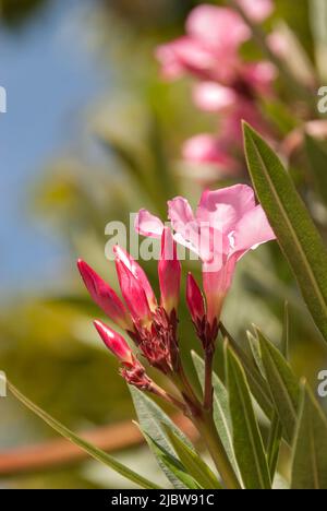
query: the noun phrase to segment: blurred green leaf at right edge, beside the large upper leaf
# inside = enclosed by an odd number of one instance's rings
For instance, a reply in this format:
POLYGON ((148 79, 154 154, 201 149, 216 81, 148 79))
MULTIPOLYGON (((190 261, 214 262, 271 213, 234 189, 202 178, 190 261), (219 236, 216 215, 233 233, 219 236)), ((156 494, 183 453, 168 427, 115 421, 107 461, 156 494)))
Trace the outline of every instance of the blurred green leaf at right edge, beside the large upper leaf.
POLYGON ((305 148, 315 190, 327 204, 327 150, 326 145, 308 134, 305 136, 305 148))

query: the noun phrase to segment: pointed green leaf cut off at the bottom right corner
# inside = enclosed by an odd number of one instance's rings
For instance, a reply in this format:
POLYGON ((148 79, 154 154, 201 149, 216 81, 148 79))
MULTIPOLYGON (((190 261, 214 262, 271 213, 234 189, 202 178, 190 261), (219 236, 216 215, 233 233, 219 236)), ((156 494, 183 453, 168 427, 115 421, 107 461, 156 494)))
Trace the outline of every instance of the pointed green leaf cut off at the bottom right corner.
POLYGON ((327 420, 304 385, 293 444, 292 489, 327 489, 327 420))

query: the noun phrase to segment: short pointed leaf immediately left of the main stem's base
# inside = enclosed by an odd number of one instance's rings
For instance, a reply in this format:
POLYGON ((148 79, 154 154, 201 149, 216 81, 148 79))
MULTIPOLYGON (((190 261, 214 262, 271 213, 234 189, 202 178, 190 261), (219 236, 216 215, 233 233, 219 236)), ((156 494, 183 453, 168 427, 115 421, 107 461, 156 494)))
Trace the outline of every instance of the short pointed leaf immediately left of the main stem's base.
POLYGON ((219 480, 203 459, 177 437, 168 427, 165 428, 173 449, 190 475, 204 489, 222 489, 219 480))

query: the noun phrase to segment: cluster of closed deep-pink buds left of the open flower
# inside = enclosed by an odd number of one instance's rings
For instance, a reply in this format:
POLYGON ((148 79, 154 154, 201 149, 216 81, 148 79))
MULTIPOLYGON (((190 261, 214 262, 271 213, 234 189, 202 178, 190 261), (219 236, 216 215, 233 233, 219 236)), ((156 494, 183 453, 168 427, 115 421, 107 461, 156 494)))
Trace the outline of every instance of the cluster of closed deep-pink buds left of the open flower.
MULTIPOLYGON (((78 261, 83 281, 94 299, 118 326, 125 330, 148 364, 164 373, 179 367, 177 309, 181 264, 170 230, 161 229, 161 258, 158 265, 160 305, 141 265, 121 247, 114 248, 116 269, 123 301, 84 261, 78 261)), ((111 328, 95 323, 101 338, 122 363, 122 376, 129 383, 144 387, 149 381, 124 338, 111 328)))

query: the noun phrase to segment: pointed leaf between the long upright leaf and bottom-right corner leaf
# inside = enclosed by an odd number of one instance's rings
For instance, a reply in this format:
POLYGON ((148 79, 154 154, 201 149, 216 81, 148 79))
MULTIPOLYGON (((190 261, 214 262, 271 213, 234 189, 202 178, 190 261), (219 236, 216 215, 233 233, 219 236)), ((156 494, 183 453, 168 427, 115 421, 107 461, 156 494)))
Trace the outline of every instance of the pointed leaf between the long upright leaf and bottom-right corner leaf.
POLYGON ((284 428, 286 439, 292 442, 298 420, 300 389, 299 382, 281 353, 259 330, 256 330, 264 368, 271 396, 284 428))

